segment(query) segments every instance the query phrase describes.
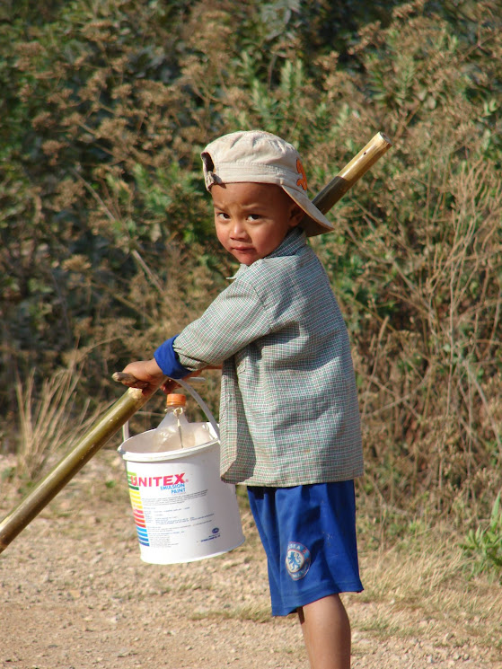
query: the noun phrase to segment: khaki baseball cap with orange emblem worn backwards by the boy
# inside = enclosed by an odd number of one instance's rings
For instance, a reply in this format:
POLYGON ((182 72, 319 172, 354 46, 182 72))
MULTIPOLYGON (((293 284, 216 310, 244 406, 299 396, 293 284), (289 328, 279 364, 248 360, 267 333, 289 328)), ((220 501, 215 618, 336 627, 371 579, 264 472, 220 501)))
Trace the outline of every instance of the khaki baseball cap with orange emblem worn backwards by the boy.
POLYGON ((274 183, 304 210, 301 225, 309 237, 333 230, 307 196, 300 154, 284 139, 262 130, 233 132, 208 144, 201 157, 207 190, 215 183, 274 183))

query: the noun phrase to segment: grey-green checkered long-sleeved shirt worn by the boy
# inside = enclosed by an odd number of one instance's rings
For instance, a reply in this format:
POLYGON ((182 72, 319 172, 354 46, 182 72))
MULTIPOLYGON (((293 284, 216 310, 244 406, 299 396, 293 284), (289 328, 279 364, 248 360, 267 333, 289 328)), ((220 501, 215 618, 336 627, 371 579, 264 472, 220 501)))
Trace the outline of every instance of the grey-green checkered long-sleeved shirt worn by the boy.
POLYGON ((362 474, 347 328, 300 229, 242 265, 173 348, 190 370, 223 364, 225 481, 286 487, 362 474))

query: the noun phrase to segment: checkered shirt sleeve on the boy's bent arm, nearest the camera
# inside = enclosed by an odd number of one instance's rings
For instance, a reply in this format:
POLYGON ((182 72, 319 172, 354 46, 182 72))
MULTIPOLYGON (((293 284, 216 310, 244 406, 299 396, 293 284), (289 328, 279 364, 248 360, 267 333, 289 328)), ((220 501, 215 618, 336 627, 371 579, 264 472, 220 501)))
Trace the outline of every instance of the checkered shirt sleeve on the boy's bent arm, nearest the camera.
POLYGON ((221 365, 271 330, 269 313, 249 281, 235 279, 173 343, 183 367, 221 365))

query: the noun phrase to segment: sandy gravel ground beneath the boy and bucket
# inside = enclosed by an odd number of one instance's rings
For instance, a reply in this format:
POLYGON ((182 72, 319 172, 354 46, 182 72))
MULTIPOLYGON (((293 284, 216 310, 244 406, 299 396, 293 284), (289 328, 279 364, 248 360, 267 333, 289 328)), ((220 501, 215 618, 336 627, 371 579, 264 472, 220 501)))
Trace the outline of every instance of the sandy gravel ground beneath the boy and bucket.
MULTIPOLYGON (((0 504, 3 516, 13 495, 0 504)), ((99 453, 0 556, 0 667, 305 669, 295 616, 270 618, 267 567, 245 509, 242 525, 246 542, 225 555, 143 563, 121 462, 99 453)), ((365 559, 363 581, 371 566, 365 559)), ((345 603, 355 669, 502 669, 499 651, 423 620, 419 608, 394 612, 362 595, 345 603)))

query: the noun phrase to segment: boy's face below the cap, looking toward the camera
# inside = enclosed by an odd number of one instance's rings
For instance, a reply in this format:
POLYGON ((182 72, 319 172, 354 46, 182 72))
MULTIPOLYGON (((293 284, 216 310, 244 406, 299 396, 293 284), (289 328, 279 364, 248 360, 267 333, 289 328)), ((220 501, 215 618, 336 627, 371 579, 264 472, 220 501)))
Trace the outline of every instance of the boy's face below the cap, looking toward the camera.
POLYGON ((304 211, 271 183, 226 183, 211 187, 218 240, 244 265, 275 251, 304 211))

